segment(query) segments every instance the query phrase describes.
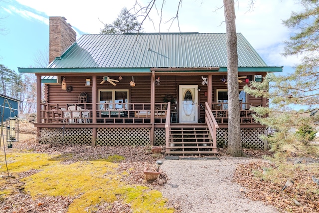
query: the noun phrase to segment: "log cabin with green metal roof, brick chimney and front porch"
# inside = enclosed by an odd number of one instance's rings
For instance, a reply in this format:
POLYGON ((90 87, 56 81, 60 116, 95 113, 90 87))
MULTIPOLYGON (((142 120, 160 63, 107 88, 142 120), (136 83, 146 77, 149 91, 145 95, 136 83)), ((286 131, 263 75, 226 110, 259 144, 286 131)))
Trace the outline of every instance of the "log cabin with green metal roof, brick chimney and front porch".
MULTIPOLYGON (((75 37, 64 17, 50 17, 50 64, 18 68, 37 78, 42 142, 163 145, 177 155, 214 154, 227 143, 226 33, 75 37)), ((250 106, 267 100, 243 87, 283 67, 267 66, 241 33, 237 38, 242 142, 264 148, 259 135, 266 129, 250 106)))

